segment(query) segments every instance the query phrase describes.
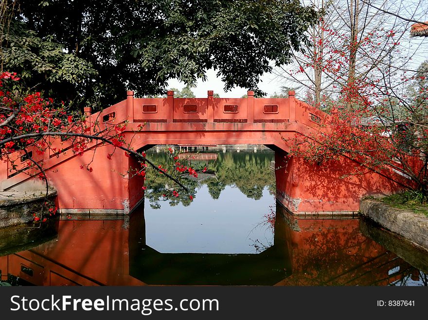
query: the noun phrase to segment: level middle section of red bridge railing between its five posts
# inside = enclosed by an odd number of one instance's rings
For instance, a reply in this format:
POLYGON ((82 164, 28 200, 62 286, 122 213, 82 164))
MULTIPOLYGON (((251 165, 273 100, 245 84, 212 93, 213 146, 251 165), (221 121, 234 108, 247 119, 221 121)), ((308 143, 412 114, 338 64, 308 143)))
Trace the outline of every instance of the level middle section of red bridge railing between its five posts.
POLYGON ((253 91, 248 98, 214 98, 213 91, 208 91, 206 99, 174 98, 174 92, 168 91, 166 98, 135 99, 128 91, 127 118, 133 122, 290 122, 295 120, 295 106, 294 91, 286 99, 255 99, 253 91))

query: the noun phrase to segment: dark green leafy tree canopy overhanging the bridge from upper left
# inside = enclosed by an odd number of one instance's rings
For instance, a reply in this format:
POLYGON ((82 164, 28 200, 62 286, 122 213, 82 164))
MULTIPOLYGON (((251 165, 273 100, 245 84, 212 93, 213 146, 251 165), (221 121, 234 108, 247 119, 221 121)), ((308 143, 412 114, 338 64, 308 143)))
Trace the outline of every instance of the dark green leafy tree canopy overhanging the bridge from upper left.
MULTIPOLYGON (((121 101, 125 89, 153 95, 171 78, 195 84, 210 68, 226 90, 238 85, 260 94, 259 76, 271 70, 271 61, 288 63, 291 51, 301 50, 319 14, 299 0, 20 0, 15 17, 23 25, 11 24, 11 32, 33 30, 96 71, 57 97, 84 97, 82 104, 103 107, 121 101)), ((3 46, 19 51, 21 44, 3 46)), ((41 82, 31 63, 3 62, 5 70, 29 72, 29 86, 52 91, 54 84, 41 82)))

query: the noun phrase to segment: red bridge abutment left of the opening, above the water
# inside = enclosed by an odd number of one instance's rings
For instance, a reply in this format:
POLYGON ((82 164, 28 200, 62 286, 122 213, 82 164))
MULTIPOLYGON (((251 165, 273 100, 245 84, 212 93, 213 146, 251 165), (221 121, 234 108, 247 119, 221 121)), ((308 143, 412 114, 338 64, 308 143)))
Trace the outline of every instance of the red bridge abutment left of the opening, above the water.
POLYGON ((74 219, 121 219, 143 201, 144 178, 135 175, 138 160, 112 146, 97 146, 49 170, 58 191, 62 216, 74 219), (111 155, 111 159, 107 155, 111 155))

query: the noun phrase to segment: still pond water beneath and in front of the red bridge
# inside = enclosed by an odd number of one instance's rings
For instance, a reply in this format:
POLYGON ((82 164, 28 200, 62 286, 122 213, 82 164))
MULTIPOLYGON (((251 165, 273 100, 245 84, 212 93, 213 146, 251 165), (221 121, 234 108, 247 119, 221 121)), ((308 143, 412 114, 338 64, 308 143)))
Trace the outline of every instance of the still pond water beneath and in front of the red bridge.
MULTIPOLYGON (((162 160, 162 153, 148 153, 162 160)), ((200 159, 198 159, 200 158, 200 159)), ((428 256, 361 219, 296 219, 275 203, 272 152, 211 152, 195 199, 160 185, 129 221, 60 220, 5 248, 13 285, 427 286, 428 256)), ((2 247, 3 245, 3 247, 2 247)))

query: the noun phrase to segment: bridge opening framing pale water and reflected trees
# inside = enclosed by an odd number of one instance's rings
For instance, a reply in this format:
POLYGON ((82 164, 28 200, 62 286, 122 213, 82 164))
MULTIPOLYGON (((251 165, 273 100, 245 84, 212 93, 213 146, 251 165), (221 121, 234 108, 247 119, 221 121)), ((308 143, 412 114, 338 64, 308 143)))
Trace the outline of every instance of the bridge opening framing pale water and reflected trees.
MULTIPOLYGON (((152 162, 162 164, 168 157, 163 150, 179 147, 157 146, 145 152, 152 162)), ((208 150, 202 145, 184 147, 186 152, 179 156, 185 164, 207 171, 184 179, 194 195, 192 201, 184 193, 163 198, 171 182, 148 177, 144 211, 153 232, 147 244, 163 253, 256 253, 270 247, 273 234, 261 227, 275 207, 274 152, 260 145, 216 145, 208 150), (178 240, 164 240, 173 234, 178 240), (192 237, 203 240, 193 241, 192 237), (263 245, 255 242, 259 239, 263 245)))

